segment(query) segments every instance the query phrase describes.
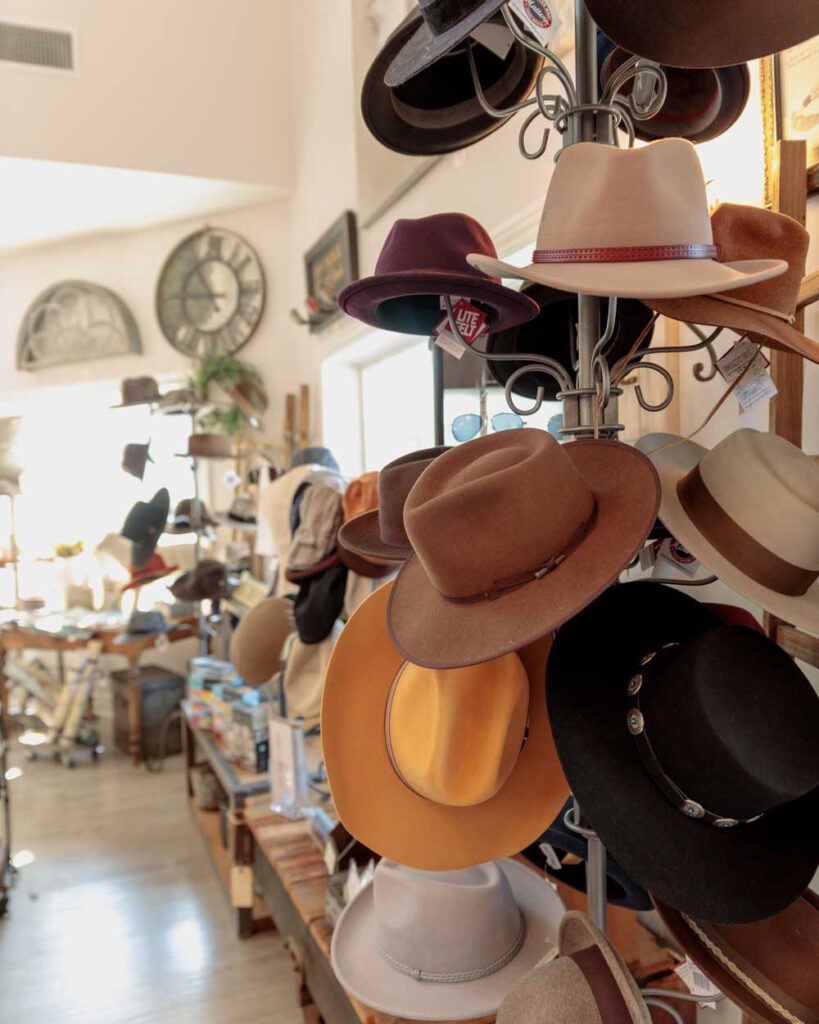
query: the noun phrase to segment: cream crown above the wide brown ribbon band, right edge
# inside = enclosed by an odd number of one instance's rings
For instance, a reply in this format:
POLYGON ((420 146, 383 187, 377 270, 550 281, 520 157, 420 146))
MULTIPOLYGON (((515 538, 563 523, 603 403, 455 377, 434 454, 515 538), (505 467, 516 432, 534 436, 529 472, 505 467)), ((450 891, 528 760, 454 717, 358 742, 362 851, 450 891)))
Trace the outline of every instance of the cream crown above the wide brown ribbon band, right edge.
POLYGON ((777 434, 745 427, 702 456, 699 474, 716 503, 755 541, 790 564, 819 570, 819 466, 813 459, 777 434))

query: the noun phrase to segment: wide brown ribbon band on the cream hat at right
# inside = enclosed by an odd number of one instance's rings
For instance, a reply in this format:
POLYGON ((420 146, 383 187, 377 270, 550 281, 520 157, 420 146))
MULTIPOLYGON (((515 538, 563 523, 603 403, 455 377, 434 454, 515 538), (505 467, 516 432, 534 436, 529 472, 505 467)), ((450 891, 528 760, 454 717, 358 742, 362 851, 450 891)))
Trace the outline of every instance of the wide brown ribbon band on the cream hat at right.
POLYGON ((679 481, 677 496, 705 540, 755 583, 777 594, 801 597, 819 579, 819 571, 785 561, 732 519, 708 490, 698 464, 679 481))

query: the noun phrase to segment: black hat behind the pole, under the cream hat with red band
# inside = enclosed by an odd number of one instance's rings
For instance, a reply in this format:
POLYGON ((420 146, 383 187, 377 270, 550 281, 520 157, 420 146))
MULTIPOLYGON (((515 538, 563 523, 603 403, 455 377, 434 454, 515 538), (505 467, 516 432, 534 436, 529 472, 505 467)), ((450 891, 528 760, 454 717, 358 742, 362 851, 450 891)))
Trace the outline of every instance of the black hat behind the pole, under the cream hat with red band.
MULTIPOLYGON (((568 375, 573 377, 573 364, 576 358, 577 296, 573 292, 561 292, 546 285, 524 285, 520 291, 537 303, 540 309, 537 315, 527 324, 490 334, 486 341, 486 352, 500 355, 514 355, 517 352, 548 355, 556 359, 568 375)), ((607 309, 608 299, 604 299, 600 313, 601 325, 606 322, 607 309)), ((605 350, 609 367, 613 367, 617 359, 629 354, 646 328, 648 331, 638 351, 648 348, 654 333, 653 326, 649 328, 650 324, 651 315, 646 315, 646 306, 642 302, 637 299, 617 300, 614 332, 605 350)), ((512 374, 524 367, 526 361, 490 359, 489 370, 501 387, 504 387, 512 374)), ((521 374, 512 390, 515 394, 533 398, 538 387, 544 389, 544 396, 548 401, 554 400, 560 390, 554 377, 541 373, 521 374)))

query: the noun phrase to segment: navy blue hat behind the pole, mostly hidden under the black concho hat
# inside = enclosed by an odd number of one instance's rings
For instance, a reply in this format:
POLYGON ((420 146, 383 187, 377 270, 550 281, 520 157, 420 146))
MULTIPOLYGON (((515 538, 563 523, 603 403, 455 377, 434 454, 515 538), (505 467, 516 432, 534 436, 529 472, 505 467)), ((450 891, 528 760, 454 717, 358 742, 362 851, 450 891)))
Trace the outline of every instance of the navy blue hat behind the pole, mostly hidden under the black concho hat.
MULTIPOLYGON (((585 893, 589 842, 585 836, 571 831, 565 823, 565 815, 572 805, 573 800, 569 797, 560 814, 537 842, 523 851, 523 855, 556 882, 585 893), (575 857, 579 858, 579 862, 575 862, 575 857)), ((623 871, 611 854, 606 856, 606 899, 609 903, 628 906, 631 910, 651 909, 651 897, 623 871)))

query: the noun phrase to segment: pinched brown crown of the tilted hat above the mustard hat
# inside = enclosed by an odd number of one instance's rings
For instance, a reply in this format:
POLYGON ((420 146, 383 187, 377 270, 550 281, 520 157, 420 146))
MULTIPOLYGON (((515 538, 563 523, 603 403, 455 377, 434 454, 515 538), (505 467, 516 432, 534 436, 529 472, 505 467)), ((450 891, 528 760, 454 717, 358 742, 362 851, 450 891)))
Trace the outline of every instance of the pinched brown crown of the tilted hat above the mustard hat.
POLYGON ((592 490, 565 450, 529 427, 436 459, 406 499, 404 526, 435 589, 466 598, 560 557, 594 512, 592 490))

